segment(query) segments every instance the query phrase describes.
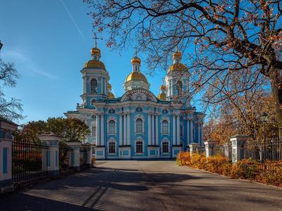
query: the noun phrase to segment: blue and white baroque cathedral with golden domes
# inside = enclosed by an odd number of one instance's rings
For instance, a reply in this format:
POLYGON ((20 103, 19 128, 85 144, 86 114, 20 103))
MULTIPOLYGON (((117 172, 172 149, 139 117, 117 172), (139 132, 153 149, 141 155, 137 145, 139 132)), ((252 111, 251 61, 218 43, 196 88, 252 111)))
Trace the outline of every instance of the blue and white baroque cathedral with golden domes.
POLYGON ((203 145, 204 114, 190 106, 190 73, 181 63, 178 49, 172 54, 173 64, 158 96, 149 91, 150 84, 141 72, 136 52, 122 96, 111 92, 110 72, 101 61, 97 43, 91 56, 80 70, 82 103, 65 115, 89 126, 91 133, 85 143, 94 146, 97 160, 168 159, 186 151, 190 143, 203 145))

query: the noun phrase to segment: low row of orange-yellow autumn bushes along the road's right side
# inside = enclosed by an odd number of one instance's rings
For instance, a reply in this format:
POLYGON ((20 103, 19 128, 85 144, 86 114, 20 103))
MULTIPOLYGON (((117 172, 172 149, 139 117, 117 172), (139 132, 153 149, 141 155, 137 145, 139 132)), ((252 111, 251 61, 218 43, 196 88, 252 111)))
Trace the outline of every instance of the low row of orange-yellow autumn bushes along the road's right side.
POLYGON ((282 160, 266 160, 264 163, 255 160, 238 160, 232 163, 228 158, 214 155, 209 158, 202 153, 180 152, 176 163, 195 169, 222 174, 233 179, 249 179, 264 184, 282 187, 282 160))

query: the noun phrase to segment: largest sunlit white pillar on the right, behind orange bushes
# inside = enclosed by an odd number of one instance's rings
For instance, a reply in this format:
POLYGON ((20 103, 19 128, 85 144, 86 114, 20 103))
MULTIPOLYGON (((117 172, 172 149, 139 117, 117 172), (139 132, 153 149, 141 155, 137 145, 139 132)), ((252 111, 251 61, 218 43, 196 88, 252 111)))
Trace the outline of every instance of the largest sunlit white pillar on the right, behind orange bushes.
POLYGON ((232 143, 232 162, 237 162, 244 158, 244 144, 250 136, 237 134, 231 136, 230 141, 232 143))

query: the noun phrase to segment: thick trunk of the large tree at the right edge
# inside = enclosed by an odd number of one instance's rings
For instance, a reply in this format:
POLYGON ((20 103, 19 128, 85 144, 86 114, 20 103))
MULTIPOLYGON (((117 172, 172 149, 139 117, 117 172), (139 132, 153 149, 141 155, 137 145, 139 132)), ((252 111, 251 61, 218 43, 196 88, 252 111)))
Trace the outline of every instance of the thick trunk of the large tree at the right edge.
MULTIPOLYGON (((276 73, 279 70, 275 70, 276 73)), ((282 87, 281 87, 281 79, 280 74, 276 75, 275 78, 271 79, 271 95, 274 98, 275 103, 275 113, 276 113, 276 121, 278 126, 278 137, 279 141, 282 141, 282 87)))

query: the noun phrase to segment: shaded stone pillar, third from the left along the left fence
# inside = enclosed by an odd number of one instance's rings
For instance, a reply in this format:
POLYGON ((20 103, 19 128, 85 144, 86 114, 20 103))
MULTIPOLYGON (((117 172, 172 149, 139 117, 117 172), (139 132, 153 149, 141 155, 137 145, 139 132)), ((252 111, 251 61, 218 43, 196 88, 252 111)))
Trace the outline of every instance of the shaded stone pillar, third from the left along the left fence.
POLYGON ((70 151, 68 151, 68 167, 73 167, 77 170, 80 168, 80 145, 79 141, 66 142, 70 151), (71 159, 70 159, 71 158, 71 159))

